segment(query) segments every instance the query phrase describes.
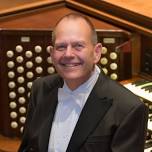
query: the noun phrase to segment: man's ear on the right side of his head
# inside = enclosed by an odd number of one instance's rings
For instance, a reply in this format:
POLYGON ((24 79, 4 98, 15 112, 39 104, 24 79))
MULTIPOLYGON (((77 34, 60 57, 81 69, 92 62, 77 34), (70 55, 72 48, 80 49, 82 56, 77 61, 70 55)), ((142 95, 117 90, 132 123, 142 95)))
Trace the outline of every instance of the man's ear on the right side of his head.
POLYGON ((94 63, 98 63, 101 58, 102 44, 97 43, 94 47, 94 63))

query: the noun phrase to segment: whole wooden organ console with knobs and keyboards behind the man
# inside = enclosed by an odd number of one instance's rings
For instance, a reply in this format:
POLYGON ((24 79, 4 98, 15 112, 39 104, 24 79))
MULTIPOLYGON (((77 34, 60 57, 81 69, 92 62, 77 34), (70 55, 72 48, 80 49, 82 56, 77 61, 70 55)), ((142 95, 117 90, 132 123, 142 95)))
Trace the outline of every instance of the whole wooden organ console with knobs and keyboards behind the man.
MULTIPOLYGON (((137 6, 137 11, 135 12, 133 12, 133 9, 131 11, 128 10, 129 4, 132 3, 131 1, 128 1, 127 4, 124 2, 124 9, 119 6, 118 0, 116 3, 118 6, 113 2, 114 0, 66 0, 65 2, 54 0, 52 2, 47 1, 45 5, 43 4, 47 7, 40 7, 40 3, 37 6, 34 4, 33 7, 31 5, 28 8, 30 13, 25 11, 25 7, 23 7, 25 12, 21 12, 21 9, 18 7, 17 9, 19 10, 17 11, 9 12, 7 10, 6 13, 2 12, 0 14, 3 17, 3 19, 0 19, 0 27, 44 28, 48 27, 48 25, 54 25, 54 21, 60 15, 71 10, 77 10, 135 34, 139 44, 136 43, 136 40, 132 44, 134 41, 132 41, 132 34, 118 30, 118 28, 117 30, 97 30, 98 39, 103 44, 99 66, 105 74, 117 81, 130 79, 134 73, 140 77, 142 76, 142 79, 144 79, 140 83, 138 81, 124 86, 139 96, 149 107, 145 152, 150 152, 152 151, 152 97, 150 92, 152 81, 152 20, 150 13, 148 15, 144 14, 144 16, 140 15, 142 10, 138 9, 142 7, 136 5, 137 0, 134 1, 135 6, 137 6), (15 18, 17 12, 18 15, 15 18), (19 14, 20 12, 21 14, 19 14), (49 18, 50 22, 45 20, 45 18, 49 18), (6 19, 10 20, 6 21, 6 19), (31 20, 35 22, 29 24, 31 20), (135 50, 132 50, 132 47, 135 50), (142 86, 139 85, 141 83, 142 86)), ((122 3, 122 1, 120 2, 122 3)), ((144 5, 148 6, 149 4, 150 0, 149 3, 144 3, 144 5)), ((148 11, 147 9, 143 10, 148 11)), ((50 30, 0 30, 1 134, 8 137, 20 137, 22 135, 26 120, 28 97, 33 80, 56 72, 49 57, 50 42, 50 30)))

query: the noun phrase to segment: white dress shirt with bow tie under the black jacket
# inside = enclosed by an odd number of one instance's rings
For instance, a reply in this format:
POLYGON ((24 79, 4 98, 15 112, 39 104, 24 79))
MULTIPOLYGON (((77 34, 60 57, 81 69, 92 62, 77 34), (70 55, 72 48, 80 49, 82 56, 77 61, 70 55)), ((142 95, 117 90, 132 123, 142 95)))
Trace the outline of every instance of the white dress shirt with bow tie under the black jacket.
POLYGON ((74 91, 64 82, 58 90, 58 105, 50 133, 48 152, 66 152, 72 133, 93 89, 100 69, 95 66, 91 77, 74 91))

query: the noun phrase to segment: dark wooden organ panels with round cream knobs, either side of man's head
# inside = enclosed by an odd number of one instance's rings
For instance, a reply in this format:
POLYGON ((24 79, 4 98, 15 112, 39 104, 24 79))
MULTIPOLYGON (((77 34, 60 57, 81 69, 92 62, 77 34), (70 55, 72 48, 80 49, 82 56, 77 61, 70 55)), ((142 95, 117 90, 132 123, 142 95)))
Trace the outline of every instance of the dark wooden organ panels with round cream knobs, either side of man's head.
MULTIPOLYGON (((103 44, 99 66, 114 80, 131 78, 131 35, 97 30, 103 44)), ((33 80, 55 73, 49 55, 51 30, 0 31, 0 132, 20 137, 33 80)))

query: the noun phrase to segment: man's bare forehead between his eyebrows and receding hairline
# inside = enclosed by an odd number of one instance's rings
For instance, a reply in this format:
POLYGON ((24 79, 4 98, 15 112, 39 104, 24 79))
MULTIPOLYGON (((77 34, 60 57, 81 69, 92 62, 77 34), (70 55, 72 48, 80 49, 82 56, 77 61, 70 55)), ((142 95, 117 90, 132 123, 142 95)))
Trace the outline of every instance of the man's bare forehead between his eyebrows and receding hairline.
POLYGON ((90 41, 92 30, 87 21, 83 18, 64 18, 54 29, 54 43, 60 40, 70 39, 90 41), (87 39, 87 40, 86 40, 87 39))

